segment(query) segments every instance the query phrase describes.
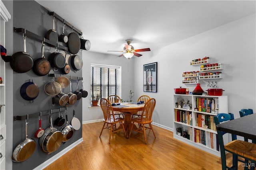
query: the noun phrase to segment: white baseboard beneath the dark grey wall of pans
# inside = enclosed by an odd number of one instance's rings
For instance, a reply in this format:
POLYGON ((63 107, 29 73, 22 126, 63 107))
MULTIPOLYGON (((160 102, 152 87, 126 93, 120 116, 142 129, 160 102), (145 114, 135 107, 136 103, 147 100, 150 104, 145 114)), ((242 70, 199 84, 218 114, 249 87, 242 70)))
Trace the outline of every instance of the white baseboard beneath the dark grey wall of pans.
POLYGON ((56 155, 52 156, 51 158, 49 158, 48 160, 46 160, 45 162, 43 162, 42 164, 40 164, 39 166, 37 166, 36 168, 34 168, 34 170, 42 170, 44 168, 46 168, 47 166, 49 166, 52 162, 54 162, 55 160, 57 160, 58 158, 60 158, 61 156, 63 156, 66 152, 70 151, 71 149, 73 149, 74 147, 76 147, 79 143, 81 143, 83 141, 83 138, 78 139, 76 142, 72 143, 71 145, 69 145, 68 147, 66 147, 65 149, 63 149, 62 151, 58 152, 56 155))

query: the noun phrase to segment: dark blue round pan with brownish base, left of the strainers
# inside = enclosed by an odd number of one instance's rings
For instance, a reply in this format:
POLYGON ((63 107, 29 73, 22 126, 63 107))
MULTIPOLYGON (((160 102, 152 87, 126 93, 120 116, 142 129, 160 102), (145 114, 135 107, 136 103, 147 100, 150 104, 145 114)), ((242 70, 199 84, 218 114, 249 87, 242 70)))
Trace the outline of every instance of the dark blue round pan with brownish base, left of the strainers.
POLYGON ((32 79, 29 80, 29 82, 24 83, 20 88, 20 95, 25 100, 29 100, 30 102, 38 96, 39 94, 39 88, 38 86, 33 82, 32 79))

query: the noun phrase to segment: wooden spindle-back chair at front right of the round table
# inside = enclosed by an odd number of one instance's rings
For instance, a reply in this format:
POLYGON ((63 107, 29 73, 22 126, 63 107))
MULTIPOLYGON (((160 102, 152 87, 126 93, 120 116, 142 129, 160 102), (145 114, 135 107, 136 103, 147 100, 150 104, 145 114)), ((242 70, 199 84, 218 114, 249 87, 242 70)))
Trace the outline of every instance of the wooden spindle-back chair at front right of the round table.
POLYGON ((154 99, 154 98, 150 98, 146 102, 146 104, 144 105, 144 108, 142 110, 142 115, 140 117, 136 117, 136 118, 132 119, 132 127, 131 127, 131 130, 130 130, 130 133, 129 133, 129 137, 132 133, 132 130, 136 131, 138 133, 143 133, 145 144, 147 144, 146 129, 151 129, 153 134, 154 134, 154 137, 156 138, 153 127, 151 125, 151 123, 152 123, 152 114, 153 114, 155 106, 156 106, 156 99, 154 99), (132 129, 135 122, 139 124, 138 129, 132 129), (148 125, 149 127, 146 127, 145 125, 148 125))

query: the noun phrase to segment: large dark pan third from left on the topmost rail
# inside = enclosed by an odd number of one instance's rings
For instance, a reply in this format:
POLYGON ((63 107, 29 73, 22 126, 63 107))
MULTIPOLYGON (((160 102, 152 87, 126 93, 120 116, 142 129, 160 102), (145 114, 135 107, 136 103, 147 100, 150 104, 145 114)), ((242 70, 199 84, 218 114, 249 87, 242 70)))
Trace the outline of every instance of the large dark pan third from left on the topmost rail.
POLYGON ((80 50, 80 38, 77 33, 72 29, 72 32, 68 34, 68 52, 71 54, 77 54, 80 50))

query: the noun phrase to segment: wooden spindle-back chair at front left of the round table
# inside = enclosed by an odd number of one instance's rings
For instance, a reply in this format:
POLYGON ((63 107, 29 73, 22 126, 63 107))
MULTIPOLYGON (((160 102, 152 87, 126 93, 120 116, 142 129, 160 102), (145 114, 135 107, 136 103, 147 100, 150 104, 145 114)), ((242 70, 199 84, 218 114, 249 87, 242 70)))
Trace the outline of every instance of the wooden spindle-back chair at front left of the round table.
POLYGON ((101 129, 101 132, 100 132, 100 136, 102 134, 102 131, 103 129, 110 129, 110 134, 109 134, 109 143, 111 141, 111 135, 112 133, 116 133, 118 131, 124 131, 124 135, 126 136, 126 132, 125 132, 125 129, 124 129, 124 118, 122 117, 115 117, 114 115, 114 111, 113 111, 113 108, 110 104, 110 102, 107 100, 107 99, 100 99, 100 107, 102 109, 102 112, 103 112, 103 115, 104 115, 104 125, 101 129), (120 126, 122 126, 122 128, 118 129, 116 128, 116 123, 120 123, 120 126), (105 127, 106 125, 106 127, 105 127))

